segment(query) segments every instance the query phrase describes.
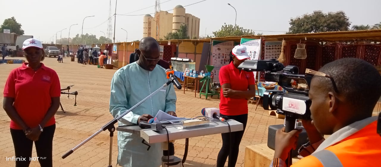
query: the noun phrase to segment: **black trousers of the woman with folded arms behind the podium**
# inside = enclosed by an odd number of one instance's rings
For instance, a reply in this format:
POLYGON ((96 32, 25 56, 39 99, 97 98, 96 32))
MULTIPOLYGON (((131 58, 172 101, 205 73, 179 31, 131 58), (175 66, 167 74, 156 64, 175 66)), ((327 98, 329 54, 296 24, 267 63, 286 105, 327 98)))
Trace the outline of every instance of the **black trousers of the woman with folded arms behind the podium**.
POLYGON ((243 124, 243 130, 231 133, 222 133, 222 148, 217 156, 217 167, 224 167, 227 157, 229 156, 229 161, 227 163, 228 167, 235 167, 237 163, 239 145, 242 140, 243 133, 245 132, 247 124, 247 114, 242 114, 238 116, 226 116, 224 114, 219 114, 221 117, 227 117, 228 119, 234 119, 243 124))

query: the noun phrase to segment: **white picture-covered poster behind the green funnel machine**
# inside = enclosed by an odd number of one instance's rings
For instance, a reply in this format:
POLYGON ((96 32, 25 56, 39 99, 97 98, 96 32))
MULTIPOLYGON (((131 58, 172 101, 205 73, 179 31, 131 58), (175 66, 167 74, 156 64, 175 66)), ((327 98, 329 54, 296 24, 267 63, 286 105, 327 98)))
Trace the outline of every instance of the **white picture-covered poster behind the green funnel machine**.
POLYGON ((218 74, 222 66, 229 64, 229 53, 234 47, 234 41, 217 41, 212 42, 212 55, 210 65, 215 66, 213 69, 213 82, 219 82, 218 74))

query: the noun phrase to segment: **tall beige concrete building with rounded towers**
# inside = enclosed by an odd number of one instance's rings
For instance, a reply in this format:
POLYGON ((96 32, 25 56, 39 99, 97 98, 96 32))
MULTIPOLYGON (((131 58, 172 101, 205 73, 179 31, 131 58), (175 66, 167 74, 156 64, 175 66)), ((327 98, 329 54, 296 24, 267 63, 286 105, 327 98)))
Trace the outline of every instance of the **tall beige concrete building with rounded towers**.
POLYGON ((143 37, 154 37, 157 40, 165 39, 169 32, 176 32, 182 24, 188 27, 187 35, 189 38, 199 37, 200 34, 200 18, 192 14, 185 13, 185 8, 177 5, 173 8, 173 13, 160 11, 152 17, 146 14, 143 17, 143 37), (157 26, 157 20, 158 25, 157 26))

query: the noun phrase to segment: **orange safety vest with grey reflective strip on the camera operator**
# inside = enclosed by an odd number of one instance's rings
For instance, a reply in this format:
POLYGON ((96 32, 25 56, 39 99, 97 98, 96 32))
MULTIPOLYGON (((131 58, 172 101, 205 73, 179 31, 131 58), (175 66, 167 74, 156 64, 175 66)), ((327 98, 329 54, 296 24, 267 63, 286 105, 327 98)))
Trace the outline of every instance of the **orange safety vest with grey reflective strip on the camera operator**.
POLYGON ((377 120, 344 140, 300 159, 291 167, 380 167, 377 120))

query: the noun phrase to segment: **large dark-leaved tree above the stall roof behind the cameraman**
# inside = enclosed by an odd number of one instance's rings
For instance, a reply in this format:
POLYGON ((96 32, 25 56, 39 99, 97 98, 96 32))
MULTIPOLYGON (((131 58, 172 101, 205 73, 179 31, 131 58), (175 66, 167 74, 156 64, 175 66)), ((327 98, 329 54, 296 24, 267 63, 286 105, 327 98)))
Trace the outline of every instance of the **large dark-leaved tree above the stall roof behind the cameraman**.
POLYGON ((286 34, 349 31, 350 25, 351 22, 344 11, 323 13, 319 10, 301 17, 291 18, 289 32, 286 34))

